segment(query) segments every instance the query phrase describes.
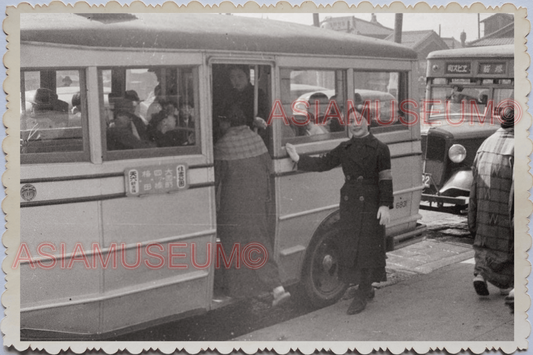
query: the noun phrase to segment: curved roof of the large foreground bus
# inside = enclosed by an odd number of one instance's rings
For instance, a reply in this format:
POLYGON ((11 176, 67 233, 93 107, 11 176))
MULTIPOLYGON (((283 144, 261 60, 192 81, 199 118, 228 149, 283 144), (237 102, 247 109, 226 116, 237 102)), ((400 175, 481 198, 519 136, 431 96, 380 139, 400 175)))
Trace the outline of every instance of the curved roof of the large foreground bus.
POLYGON ((417 58, 416 52, 394 42, 220 14, 21 14, 20 38, 107 48, 417 58))

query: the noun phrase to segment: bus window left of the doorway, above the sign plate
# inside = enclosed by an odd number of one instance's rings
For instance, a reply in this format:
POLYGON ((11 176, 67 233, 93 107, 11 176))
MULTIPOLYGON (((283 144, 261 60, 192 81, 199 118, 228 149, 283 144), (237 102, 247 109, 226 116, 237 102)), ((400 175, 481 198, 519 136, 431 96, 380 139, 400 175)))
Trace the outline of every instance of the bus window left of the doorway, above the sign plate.
POLYGON ((191 67, 100 70, 107 150, 195 146, 195 72, 191 67))

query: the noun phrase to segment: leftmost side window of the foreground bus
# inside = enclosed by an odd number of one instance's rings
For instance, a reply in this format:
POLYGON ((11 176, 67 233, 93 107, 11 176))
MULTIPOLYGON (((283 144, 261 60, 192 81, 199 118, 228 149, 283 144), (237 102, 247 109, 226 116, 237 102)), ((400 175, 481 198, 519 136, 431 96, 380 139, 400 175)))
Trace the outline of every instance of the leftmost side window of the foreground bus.
POLYGON ((80 90, 80 72, 22 71, 21 77, 21 154, 62 153, 59 159, 68 161, 65 153, 82 152, 85 95, 80 90))

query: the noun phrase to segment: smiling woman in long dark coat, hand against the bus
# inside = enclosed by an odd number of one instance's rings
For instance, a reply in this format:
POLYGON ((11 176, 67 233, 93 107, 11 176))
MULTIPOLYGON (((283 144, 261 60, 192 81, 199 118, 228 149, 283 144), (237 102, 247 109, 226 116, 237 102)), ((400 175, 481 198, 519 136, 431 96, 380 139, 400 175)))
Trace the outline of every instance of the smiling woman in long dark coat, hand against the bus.
POLYGON ((304 171, 342 167, 345 183, 340 199, 340 277, 358 283, 347 314, 362 312, 374 298, 373 282, 386 280, 385 225, 393 206, 389 148, 368 130, 368 118, 355 110, 348 114, 351 139, 318 158, 300 156, 287 143, 287 153, 304 171), (356 116, 356 117, 354 117, 356 116))

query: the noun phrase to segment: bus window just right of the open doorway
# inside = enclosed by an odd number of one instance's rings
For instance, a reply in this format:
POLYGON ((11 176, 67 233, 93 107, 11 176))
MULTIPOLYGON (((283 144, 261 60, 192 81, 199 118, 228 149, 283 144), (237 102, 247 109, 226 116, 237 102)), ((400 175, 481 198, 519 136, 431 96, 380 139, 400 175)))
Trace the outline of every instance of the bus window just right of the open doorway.
POLYGON ((281 101, 290 125, 282 125, 284 142, 345 137, 345 72, 281 70, 281 101))

